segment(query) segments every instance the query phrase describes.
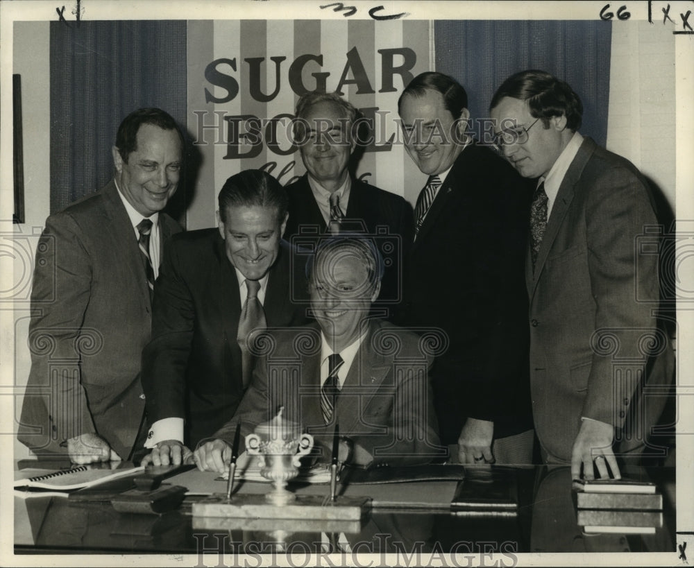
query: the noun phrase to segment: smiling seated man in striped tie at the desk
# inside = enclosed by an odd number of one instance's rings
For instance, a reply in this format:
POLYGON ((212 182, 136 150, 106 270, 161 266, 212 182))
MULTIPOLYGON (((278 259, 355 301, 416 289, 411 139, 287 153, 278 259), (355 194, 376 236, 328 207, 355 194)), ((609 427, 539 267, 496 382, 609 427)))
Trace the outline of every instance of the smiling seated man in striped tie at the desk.
POLYGON ((369 318, 383 273, 378 250, 368 239, 328 237, 307 272, 317 322, 265 337, 236 415, 198 445, 198 468, 226 470, 236 424, 245 436, 280 405, 284 418, 314 436, 321 461, 330 458, 336 423, 343 463, 431 461, 440 449, 428 379, 432 358, 415 334, 369 318))

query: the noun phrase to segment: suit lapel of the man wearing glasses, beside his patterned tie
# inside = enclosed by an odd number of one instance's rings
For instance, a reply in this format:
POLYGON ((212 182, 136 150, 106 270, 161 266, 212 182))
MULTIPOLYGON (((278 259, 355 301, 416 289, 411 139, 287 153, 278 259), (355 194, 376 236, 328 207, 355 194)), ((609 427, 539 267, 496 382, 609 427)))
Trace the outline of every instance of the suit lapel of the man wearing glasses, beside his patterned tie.
MULTIPOLYGON (((575 186, 581 178, 583 169, 585 168, 588 160, 595 151, 595 142, 591 139, 586 138, 581 144, 578 153, 571 162, 566 175, 564 175, 564 180, 561 181, 559 186, 559 191, 557 191, 557 198, 555 199, 554 205, 552 205, 552 212, 550 213, 550 218, 547 221, 547 227, 545 228, 545 234, 540 245, 540 250, 537 253, 537 261, 535 264, 535 271, 532 275, 532 294, 534 294, 539 282, 540 275, 545 266, 545 261, 552 249, 552 244, 557 238, 559 233, 559 228, 564 223, 564 218, 566 213, 573 201, 575 195, 575 186)), ((528 239, 530 241, 530 239, 528 239)), ((530 266, 532 270, 532 261, 528 257, 526 266, 530 266), (530 263, 530 264, 528 264, 530 263)), ((526 270, 527 277, 527 270, 526 270)))

